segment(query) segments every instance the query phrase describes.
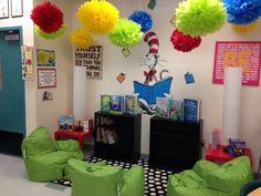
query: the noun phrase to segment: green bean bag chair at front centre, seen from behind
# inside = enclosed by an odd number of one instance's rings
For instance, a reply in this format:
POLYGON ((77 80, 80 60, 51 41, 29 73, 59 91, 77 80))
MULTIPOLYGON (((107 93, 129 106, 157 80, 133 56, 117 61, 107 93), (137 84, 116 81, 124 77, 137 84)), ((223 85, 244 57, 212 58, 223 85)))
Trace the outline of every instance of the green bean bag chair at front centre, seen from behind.
POLYGON ((135 165, 128 171, 104 164, 69 161, 72 196, 144 196, 144 171, 135 165))

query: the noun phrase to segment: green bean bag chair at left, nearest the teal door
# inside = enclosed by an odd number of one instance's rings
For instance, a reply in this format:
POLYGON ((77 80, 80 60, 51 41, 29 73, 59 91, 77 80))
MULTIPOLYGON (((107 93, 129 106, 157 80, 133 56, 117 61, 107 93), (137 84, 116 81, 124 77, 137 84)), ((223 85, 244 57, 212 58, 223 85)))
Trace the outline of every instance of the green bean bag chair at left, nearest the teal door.
POLYGON ((83 159, 77 141, 53 141, 43 126, 24 138, 21 148, 28 178, 34 182, 67 179, 67 161, 83 159))

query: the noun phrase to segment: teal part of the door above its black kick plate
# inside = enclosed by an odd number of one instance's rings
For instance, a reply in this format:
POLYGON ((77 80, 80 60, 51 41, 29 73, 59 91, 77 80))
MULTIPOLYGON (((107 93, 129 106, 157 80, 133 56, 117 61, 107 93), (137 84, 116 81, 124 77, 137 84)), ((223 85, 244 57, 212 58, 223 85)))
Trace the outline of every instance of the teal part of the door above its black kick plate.
POLYGON ((0 28, 0 131, 25 134, 22 28, 0 28))

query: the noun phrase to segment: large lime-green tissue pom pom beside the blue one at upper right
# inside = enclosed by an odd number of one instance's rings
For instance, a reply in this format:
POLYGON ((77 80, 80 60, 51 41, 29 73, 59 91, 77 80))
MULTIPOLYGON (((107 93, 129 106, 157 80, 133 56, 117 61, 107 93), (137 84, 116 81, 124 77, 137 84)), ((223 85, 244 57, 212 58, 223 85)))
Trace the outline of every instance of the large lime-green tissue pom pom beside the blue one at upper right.
POLYGON ((226 9, 219 0, 187 0, 176 10, 177 29, 192 37, 213 33, 226 18, 226 9))

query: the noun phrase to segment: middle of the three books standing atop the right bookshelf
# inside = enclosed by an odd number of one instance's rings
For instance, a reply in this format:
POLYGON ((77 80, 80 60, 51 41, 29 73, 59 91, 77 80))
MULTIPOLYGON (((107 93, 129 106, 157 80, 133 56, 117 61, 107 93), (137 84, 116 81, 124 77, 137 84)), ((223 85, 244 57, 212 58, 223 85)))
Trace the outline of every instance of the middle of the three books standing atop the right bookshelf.
POLYGON ((174 121, 182 121, 184 120, 184 106, 182 101, 169 99, 169 118, 174 121))

